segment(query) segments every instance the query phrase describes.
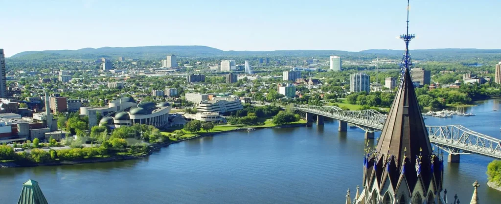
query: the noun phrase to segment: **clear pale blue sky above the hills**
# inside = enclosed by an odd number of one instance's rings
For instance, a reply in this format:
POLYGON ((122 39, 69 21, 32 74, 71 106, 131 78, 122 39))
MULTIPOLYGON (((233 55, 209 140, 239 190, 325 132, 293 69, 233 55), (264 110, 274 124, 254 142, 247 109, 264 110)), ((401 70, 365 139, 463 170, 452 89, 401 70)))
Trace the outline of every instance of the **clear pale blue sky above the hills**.
MULTIPOLYGON (((405 0, 0 0, 0 48, 402 49, 405 0)), ((411 49, 501 49, 501 1, 412 0, 411 49)))

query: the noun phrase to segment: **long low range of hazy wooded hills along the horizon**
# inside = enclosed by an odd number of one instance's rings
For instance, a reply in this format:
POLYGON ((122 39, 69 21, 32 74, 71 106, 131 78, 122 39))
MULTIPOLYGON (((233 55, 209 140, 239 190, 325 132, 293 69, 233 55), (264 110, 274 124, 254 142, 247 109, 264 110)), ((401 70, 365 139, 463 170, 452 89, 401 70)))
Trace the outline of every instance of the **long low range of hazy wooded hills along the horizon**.
MULTIPOLYGON (((344 60, 369 60, 376 57, 399 59, 403 50, 364 50, 360 52, 336 50, 277 50, 277 51, 222 51, 207 46, 146 46, 146 47, 104 47, 84 48, 80 50, 28 51, 12 56, 20 60, 58 60, 58 59, 98 59, 102 57, 138 58, 158 60, 166 55, 180 57, 223 57, 223 56, 293 56, 293 57, 329 57, 341 56, 344 60)), ((501 58, 501 50, 480 49, 428 49, 411 50, 414 60, 431 61, 496 61, 501 58)))

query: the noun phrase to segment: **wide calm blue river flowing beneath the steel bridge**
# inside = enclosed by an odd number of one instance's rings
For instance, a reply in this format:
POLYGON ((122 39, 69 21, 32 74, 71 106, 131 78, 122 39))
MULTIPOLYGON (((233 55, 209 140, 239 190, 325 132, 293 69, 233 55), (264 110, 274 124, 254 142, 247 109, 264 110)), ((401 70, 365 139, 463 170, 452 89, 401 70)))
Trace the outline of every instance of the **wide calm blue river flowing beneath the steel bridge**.
MULTIPOLYGON (((467 108, 473 117, 432 118, 500 137, 498 100, 467 108)), ((364 132, 324 126, 231 132, 172 144, 147 158, 120 162, 0 169, 0 203, 15 203, 22 183, 39 181, 49 203, 344 203, 362 183, 364 132)), ((378 136, 376 134, 376 136, 378 136)), ((444 187, 469 203, 472 183, 481 203, 498 203, 486 186, 491 158, 461 155, 445 163, 444 187)))

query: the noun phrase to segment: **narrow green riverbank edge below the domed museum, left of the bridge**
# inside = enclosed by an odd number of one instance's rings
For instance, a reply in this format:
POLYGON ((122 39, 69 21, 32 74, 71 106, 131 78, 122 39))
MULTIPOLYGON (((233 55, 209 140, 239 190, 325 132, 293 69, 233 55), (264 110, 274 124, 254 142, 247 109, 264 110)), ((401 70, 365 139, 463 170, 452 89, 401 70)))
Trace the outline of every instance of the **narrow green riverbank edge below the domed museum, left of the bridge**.
MULTIPOLYGON (((48 162, 48 163, 41 163, 41 164, 27 164, 27 165, 20 165, 20 164, 14 163, 14 162, 0 162, 0 168, 35 167, 35 166, 39 166, 39 165, 41 165, 41 166, 74 165, 74 164, 81 164, 81 163, 99 163, 99 162, 122 161, 122 160, 129 160, 129 159, 140 159, 140 158, 144 158, 144 157, 151 155, 153 152, 160 150, 162 147, 167 147, 171 144, 175 144, 175 143, 182 142, 185 140, 206 137, 206 136, 214 136, 217 134, 234 132, 234 131, 246 131, 247 128, 254 128, 257 130, 257 129, 303 127, 303 126, 306 126, 306 122, 304 122, 304 121, 301 121, 300 123, 287 124, 287 125, 281 125, 281 126, 269 125, 269 124, 265 124, 265 125, 261 125, 261 126, 240 126, 240 127, 235 126, 234 128, 233 127, 227 128, 228 126, 221 126, 221 127, 226 127, 227 129, 221 130, 221 131, 197 133, 191 137, 169 140, 169 142, 164 142, 164 143, 152 144, 147 152, 145 152, 143 154, 138 154, 138 155, 116 155, 115 154, 115 155, 112 155, 109 157, 103 157, 103 158, 91 158, 91 159, 82 159, 82 160, 74 160, 74 161, 57 161, 57 162, 55 161, 55 162, 48 162)), ((164 132, 162 132, 162 134, 164 134, 164 132)))

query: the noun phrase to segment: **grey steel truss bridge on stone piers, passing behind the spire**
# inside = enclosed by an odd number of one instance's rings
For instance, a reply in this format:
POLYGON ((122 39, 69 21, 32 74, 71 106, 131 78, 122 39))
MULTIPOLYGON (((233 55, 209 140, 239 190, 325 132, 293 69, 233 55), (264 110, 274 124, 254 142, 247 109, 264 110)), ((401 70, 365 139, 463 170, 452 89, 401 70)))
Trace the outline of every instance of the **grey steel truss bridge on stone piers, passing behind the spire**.
MULTIPOLYGON (((296 111, 306 113, 309 123, 313 116, 323 123, 323 117, 340 121, 340 131, 346 131, 346 123, 356 125, 367 133, 381 131, 386 115, 376 110, 344 111, 336 106, 296 106, 296 111), (321 117, 323 116, 323 117, 321 117)), ((319 123, 320 124, 320 123, 319 123)), ((430 142, 449 153, 450 162, 459 162, 460 154, 480 154, 501 159, 501 140, 469 130, 461 125, 426 126, 430 142)))

